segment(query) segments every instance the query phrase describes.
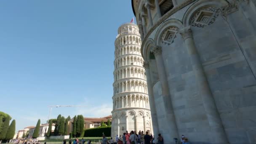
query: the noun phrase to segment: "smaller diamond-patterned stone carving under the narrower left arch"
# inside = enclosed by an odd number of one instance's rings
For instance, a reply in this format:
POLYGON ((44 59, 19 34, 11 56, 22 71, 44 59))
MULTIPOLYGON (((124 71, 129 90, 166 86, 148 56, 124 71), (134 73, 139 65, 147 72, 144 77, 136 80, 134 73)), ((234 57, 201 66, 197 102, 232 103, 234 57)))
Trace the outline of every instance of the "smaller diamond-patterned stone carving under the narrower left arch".
POLYGON ((179 28, 177 27, 170 27, 168 28, 164 33, 163 36, 161 37, 161 42, 164 44, 170 45, 173 43, 174 38, 176 37, 177 31, 179 28))

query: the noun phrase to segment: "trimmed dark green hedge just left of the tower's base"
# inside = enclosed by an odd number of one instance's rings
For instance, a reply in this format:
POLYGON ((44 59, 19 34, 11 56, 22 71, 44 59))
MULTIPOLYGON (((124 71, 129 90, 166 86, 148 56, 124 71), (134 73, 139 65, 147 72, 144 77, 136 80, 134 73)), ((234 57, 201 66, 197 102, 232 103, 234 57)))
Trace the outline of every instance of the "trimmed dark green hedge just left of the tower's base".
POLYGON ((87 129, 84 137, 101 137, 103 133, 107 137, 111 136, 111 126, 87 129))

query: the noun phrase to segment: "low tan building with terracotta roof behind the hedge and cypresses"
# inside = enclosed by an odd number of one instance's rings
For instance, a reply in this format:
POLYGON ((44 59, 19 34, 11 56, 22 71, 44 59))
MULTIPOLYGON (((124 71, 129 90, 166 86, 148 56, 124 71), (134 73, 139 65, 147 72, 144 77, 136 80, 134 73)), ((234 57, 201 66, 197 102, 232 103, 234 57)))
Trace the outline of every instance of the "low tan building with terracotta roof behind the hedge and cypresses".
MULTIPOLYGON (((90 129, 90 128, 97 128, 101 125, 101 121, 103 121, 107 125, 107 120, 112 120, 112 116, 109 115, 107 117, 100 117, 100 118, 94 118, 94 117, 84 117, 85 123, 84 123, 84 129, 90 129)), ((68 122, 68 133, 71 133, 73 131, 73 118, 69 120, 68 122)))

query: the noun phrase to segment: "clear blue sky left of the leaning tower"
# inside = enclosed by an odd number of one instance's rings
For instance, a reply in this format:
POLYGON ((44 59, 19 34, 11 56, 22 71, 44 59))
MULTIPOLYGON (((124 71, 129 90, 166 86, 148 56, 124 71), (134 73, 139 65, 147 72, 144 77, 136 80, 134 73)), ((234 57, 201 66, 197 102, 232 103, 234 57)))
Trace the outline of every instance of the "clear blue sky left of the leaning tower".
POLYGON ((114 42, 131 0, 1 0, 0 111, 16 131, 61 114, 111 114, 114 42))

